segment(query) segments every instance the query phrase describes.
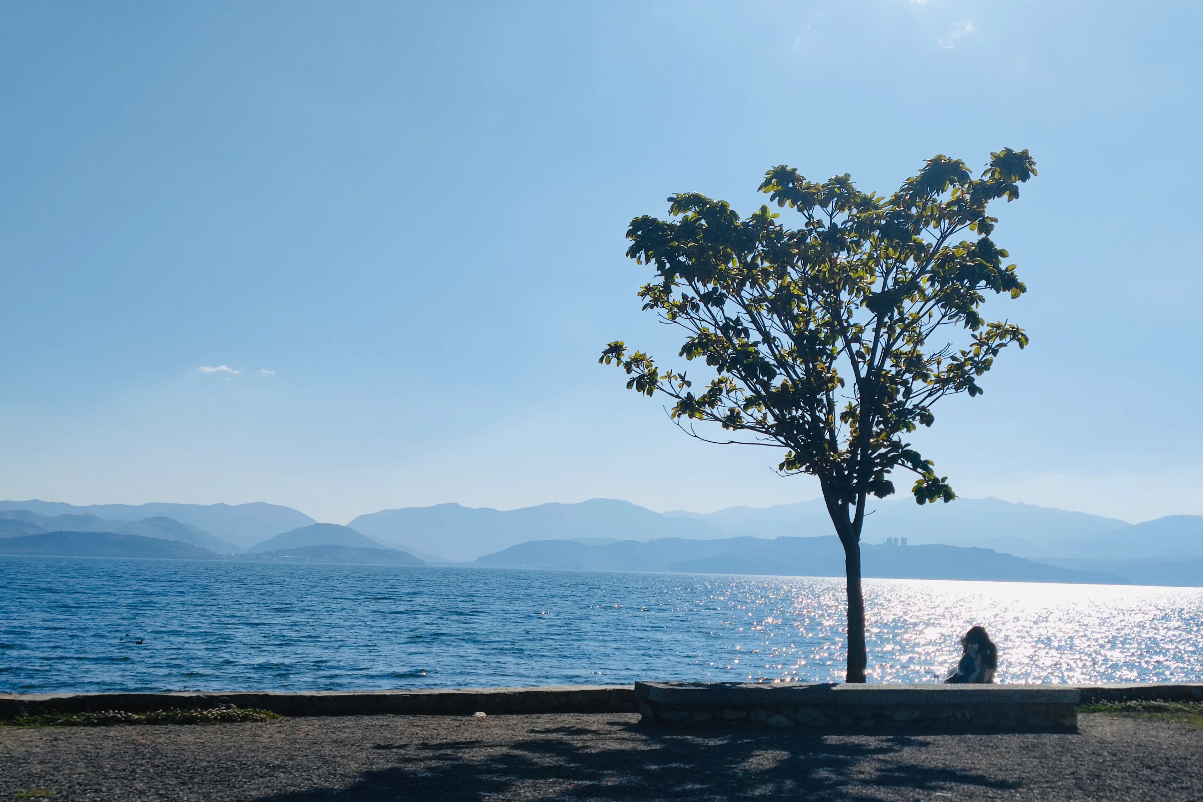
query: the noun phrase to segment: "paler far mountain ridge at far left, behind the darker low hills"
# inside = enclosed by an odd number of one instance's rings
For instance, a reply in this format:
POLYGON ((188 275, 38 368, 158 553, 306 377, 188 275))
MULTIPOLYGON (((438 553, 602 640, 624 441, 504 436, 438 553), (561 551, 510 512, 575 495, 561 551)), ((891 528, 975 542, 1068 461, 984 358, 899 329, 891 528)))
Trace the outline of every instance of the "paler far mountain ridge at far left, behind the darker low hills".
POLYGON ((107 521, 141 521, 166 516, 242 547, 251 546, 282 531, 314 523, 314 519, 303 512, 262 501, 236 505, 153 503, 75 506, 60 501, 31 500, 0 501, 0 510, 31 510, 47 516, 94 515, 107 521))

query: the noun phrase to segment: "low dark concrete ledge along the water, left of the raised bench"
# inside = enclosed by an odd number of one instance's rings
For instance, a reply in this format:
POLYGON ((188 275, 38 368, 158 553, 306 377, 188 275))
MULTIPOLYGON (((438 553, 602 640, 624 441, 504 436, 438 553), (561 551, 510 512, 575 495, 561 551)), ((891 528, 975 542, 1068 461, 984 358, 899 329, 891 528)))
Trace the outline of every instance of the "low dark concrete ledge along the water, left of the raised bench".
POLYGON ((502 713, 634 713, 630 685, 552 685, 457 690, 369 690, 312 694, 0 694, 0 719, 43 713, 254 707, 280 715, 472 715, 502 713))

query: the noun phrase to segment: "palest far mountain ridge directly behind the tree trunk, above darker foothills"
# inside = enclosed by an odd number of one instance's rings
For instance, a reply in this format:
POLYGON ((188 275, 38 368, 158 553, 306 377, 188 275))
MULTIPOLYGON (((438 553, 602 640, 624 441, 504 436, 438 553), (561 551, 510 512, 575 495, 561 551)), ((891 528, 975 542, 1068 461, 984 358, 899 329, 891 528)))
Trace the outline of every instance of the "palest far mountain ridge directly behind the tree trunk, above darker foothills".
MULTIPOLYGON (((729 507, 700 515, 672 511, 715 527, 755 537, 812 537, 834 534, 820 499, 771 507, 729 507)), ((882 542, 985 546, 1012 553, 1037 553, 1051 543, 1096 537, 1130 524, 1116 518, 1071 512, 1000 499, 960 498, 950 504, 918 505, 911 499, 870 500, 863 539, 882 542)))

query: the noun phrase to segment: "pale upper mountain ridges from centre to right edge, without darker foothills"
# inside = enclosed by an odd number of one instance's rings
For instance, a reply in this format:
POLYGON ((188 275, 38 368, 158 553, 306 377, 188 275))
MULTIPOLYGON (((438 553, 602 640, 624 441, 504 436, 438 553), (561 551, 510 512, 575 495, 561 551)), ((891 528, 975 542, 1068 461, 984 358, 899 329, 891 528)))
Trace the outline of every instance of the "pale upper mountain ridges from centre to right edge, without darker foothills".
MULTIPOLYGON (((381 542, 421 552, 433 562, 470 562, 534 540, 717 540, 735 535, 771 540, 831 534, 822 500, 730 507, 710 515, 657 513, 611 499, 509 511, 442 504, 373 512, 348 525, 381 542)), ((992 548, 1036 560, 1203 558, 1201 516, 1171 516, 1133 527, 1118 518, 992 498, 923 506, 905 499, 876 501, 870 505, 864 541, 883 542, 887 537, 906 537, 912 545, 992 548)))

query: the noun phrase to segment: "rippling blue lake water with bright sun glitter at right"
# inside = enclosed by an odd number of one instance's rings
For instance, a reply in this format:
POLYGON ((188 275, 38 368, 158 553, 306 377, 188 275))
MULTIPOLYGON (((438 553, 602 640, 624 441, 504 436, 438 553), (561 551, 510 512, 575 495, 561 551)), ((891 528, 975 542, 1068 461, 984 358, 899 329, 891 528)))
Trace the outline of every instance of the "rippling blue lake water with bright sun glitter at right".
MULTIPOLYGON (((1203 589, 865 586, 875 682, 943 676, 971 624, 1002 682, 1203 681, 1203 589)), ((825 682, 842 604, 826 578, 0 557, 0 691, 825 682)))

